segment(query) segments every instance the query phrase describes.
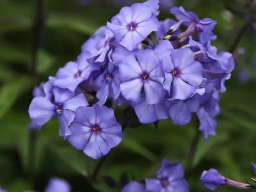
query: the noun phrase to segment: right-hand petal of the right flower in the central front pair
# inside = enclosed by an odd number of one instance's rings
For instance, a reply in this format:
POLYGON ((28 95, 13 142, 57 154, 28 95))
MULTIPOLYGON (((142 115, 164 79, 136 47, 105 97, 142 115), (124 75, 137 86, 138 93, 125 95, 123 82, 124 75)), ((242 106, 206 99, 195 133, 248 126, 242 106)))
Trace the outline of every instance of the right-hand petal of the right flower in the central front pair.
POLYGON ((204 69, 200 62, 194 61, 182 70, 180 70, 179 77, 191 86, 197 87, 203 81, 204 69))

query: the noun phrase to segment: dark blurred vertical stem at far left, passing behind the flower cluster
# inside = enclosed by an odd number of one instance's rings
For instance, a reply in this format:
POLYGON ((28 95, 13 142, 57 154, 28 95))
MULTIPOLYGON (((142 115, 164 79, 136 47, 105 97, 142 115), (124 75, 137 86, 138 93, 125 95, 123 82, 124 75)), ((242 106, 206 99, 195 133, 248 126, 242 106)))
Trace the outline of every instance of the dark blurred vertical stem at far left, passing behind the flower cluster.
MULTIPOLYGON (((31 66, 30 76, 36 77, 36 62, 38 58, 38 49, 40 46, 40 36, 43 28, 43 0, 36 0, 36 16, 32 26, 32 50, 31 50, 31 66)), ((29 133, 29 146, 28 146, 28 179, 31 184, 34 184, 35 174, 35 152, 36 152, 36 132, 29 133)))

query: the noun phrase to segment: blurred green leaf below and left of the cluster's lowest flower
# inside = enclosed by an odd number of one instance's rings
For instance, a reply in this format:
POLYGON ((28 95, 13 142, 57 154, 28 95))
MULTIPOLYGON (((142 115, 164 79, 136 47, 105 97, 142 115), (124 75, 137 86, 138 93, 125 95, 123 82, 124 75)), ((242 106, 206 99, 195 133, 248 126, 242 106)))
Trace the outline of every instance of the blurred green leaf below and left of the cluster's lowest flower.
POLYGON ((66 162, 74 171, 87 176, 86 155, 72 146, 49 145, 51 149, 63 162, 66 162))

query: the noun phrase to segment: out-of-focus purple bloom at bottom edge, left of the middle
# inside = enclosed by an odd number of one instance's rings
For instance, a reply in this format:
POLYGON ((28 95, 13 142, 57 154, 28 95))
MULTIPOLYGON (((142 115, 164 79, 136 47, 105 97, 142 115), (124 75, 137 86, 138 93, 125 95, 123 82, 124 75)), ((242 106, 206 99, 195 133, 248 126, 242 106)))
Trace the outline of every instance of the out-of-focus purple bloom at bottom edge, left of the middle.
POLYGON ((71 186, 66 180, 52 178, 44 192, 71 192, 71 186))

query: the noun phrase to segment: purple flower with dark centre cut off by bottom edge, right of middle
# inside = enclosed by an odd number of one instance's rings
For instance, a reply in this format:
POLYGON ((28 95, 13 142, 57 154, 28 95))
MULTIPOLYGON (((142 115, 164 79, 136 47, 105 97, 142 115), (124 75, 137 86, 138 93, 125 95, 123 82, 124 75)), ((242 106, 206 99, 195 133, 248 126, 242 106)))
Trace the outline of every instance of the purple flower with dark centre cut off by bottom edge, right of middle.
POLYGON ((181 163, 170 163, 164 158, 161 168, 156 172, 156 179, 145 179, 146 190, 150 192, 188 192, 188 183, 183 178, 181 163))

